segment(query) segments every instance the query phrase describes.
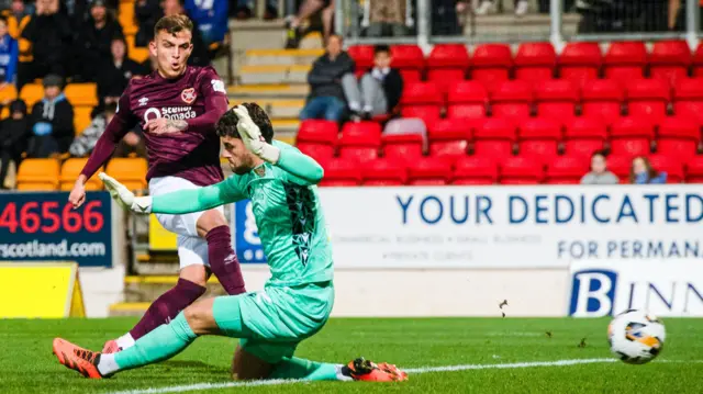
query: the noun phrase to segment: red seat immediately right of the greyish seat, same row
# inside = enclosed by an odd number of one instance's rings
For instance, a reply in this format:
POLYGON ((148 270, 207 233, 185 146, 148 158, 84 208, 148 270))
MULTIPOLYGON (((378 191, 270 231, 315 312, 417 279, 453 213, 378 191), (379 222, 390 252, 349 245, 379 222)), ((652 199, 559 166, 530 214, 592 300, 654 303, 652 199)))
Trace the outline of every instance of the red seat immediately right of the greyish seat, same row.
POLYGON ((461 120, 443 119, 427 126, 429 156, 450 162, 467 155, 471 139, 471 125, 461 120))

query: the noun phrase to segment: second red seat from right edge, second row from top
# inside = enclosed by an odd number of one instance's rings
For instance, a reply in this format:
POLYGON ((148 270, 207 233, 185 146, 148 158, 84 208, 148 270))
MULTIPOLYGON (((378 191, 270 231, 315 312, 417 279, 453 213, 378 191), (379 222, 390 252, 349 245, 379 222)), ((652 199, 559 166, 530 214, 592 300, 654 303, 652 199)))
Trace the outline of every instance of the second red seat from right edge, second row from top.
POLYGON ((631 80, 627 83, 627 113, 658 122, 667 115, 670 98, 668 82, 659 79, 631 80))

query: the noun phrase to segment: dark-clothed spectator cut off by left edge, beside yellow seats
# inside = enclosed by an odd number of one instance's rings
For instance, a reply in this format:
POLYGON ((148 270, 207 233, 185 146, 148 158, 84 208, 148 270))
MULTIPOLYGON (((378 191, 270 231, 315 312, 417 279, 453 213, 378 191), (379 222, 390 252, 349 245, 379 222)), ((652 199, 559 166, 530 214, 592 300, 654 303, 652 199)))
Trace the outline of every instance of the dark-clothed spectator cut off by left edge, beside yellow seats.
POLYGON ((0 124, 0 189, 4 189, 10 161, 20 165, 29 138, 26 104, 22 100, 10 103, 10 117, 0 124))

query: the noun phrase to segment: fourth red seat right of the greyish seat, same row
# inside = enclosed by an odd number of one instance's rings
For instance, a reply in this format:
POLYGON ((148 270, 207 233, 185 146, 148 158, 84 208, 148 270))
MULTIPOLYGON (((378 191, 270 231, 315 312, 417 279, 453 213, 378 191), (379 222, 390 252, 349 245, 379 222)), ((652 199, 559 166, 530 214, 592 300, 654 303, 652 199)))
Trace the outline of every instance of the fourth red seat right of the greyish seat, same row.
POLYGON ((563 148, 569 156, 591 157, 607 139, 607 127, 599 119, 574 117, 566 125, 563 148))

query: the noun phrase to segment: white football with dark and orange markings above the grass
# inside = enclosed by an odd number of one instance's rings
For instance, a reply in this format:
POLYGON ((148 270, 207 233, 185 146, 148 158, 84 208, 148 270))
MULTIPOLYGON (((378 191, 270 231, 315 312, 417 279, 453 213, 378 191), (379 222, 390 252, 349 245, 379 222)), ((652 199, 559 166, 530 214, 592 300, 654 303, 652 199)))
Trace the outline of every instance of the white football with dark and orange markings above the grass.
POLYGON ((607 327, 611 351, 628 364, 654 360, 661 352, 665 339, 663 323, 645 311, 623 312, 607 327))

